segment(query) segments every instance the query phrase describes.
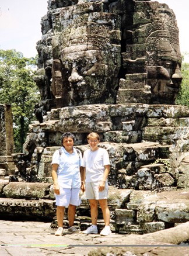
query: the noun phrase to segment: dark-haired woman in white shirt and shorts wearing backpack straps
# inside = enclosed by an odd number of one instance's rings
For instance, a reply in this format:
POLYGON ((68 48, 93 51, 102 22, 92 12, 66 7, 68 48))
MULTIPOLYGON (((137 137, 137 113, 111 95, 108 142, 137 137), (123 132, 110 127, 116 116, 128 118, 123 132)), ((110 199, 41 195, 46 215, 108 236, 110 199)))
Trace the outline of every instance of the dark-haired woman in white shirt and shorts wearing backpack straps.
POLYGON ((82 154, 74 148, 75 136, 72 133, 62 134, 62 147, 53 154, 52 177, 57 205, 58 229, 55 236, 63 234, 64 210, 68 207, 70 232, 78 232, 74 227, 76 206, 80 205, 79 192, 83 179, 82 154))

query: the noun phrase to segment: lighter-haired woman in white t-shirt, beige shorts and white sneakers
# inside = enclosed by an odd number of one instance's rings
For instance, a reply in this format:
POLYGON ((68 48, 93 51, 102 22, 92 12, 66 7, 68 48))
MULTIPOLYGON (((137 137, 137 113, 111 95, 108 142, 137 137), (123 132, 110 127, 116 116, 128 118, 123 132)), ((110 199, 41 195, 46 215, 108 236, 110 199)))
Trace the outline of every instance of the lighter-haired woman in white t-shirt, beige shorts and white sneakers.
POLYGON ((86 198, 90 203, 90 215, 92 226, 88 227, 84 234, 97 234, 98 201, 103 212, 105 227, 101 230, 101 236, 111 234, 110 210, 107 205, 108 182, 107 177, 110 171, 110 160, 105 148, 98 147, 100 142, 99 134, 90 133, 88 143, 90 149, 83 154, 83 182, 85 181, 86 198))

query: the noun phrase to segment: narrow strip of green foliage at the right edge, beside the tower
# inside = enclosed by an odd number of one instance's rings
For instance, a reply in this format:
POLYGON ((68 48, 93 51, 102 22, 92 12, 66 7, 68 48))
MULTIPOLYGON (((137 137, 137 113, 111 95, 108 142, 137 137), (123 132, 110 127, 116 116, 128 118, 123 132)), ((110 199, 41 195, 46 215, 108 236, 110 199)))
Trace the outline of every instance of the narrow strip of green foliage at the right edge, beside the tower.
MULTIPOLYGON (((187 53, 185 54, 187 55, 187 53)), ((189 63, 183 62, 181 73, 183 75, 183 81, 181 82, 181 88, 176 99, 176 104, 189 107, 189 63)))

